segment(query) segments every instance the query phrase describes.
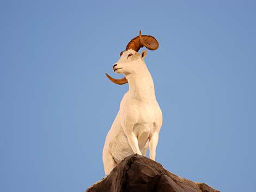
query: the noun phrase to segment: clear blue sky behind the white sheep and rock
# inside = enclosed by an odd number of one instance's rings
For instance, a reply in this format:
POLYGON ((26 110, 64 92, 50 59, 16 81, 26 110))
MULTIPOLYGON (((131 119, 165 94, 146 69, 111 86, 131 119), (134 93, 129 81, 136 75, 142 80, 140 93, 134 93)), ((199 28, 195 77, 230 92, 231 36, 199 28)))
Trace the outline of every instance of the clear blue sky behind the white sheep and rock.
POLYGON ((255 1, 0 2, 0 190, 84 191, 127 85, 112 71, 142 30, 163 126, 156 160, 221 191, 256 181, 255 1))

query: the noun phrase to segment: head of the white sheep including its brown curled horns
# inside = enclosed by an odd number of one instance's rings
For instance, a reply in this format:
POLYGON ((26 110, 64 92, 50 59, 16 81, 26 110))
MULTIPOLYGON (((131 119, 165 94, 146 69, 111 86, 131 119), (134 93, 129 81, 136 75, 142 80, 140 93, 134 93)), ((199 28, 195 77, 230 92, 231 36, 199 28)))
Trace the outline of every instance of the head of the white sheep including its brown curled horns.
MULTIPOLYGON (((144 46, 149 50, 156 50, 159 47, 159 43, 153 36, 142 35, 140 30, 139 36, 133 38, 129 44, 127 44, 125 51, 120 53, 120 59, 113 65, 114 72, 129 75, 130 73, 139 71, 139 67, 143 66, 137 65, 137 63, 144 63, 144 58, 147 55, 147 51, 143 50, 141 54, 139 54, 138 51, 141 47, 144 46), (136 63, 136 65, 132 65, 133 63, 136 63)), ((107 73, 106 76, 115 84, 122 85, 128 83, 125 77, 121 79, 115 79, 109 76, 107 73)))

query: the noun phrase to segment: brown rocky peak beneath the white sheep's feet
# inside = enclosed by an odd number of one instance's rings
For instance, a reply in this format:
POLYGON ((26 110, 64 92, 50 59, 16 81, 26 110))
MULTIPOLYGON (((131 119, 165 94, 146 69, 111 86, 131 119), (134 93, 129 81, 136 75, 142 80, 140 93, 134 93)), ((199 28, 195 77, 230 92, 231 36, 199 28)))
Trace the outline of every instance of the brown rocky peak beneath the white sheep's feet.
POLYGON ((204 183, 172 174, 160 163, 133 154, 86 192, 220 192, 204 183))

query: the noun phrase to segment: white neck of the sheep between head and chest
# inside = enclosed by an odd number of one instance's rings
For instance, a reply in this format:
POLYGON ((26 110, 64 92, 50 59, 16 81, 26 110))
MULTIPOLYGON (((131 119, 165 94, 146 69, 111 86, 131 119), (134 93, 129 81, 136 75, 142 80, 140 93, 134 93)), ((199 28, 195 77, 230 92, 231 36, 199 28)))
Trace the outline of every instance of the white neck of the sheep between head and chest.
POLYGON ((126 76, 129 83, 129 94, 142 102, 152 102, 156 99, 154 82, 148 70, 144 73, 126 76))

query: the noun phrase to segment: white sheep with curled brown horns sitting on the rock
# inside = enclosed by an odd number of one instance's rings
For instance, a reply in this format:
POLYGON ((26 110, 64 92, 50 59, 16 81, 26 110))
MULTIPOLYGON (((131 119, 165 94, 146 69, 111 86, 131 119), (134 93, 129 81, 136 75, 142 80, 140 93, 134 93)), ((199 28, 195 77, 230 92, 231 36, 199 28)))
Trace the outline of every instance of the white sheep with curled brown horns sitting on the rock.
POLYGON ((156 101, 153 79, 144 62, 147 51, 138 53, 143 46, 155 50, 159 44, 153 36, 141 35, 139 31, 139 36, 129 42, 126 50, 120 53, 120 59, 113 65, 114 72, 125 77, 114 79, 106 74, 113 83, 129 83, 129 91, 120 103, 103 147, 106 175, 130 154, 145 156, 149 148, 150 159, 155 160, 156 157, 162 112, 156 101))

